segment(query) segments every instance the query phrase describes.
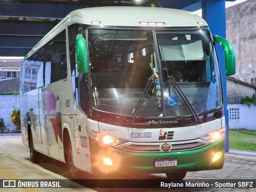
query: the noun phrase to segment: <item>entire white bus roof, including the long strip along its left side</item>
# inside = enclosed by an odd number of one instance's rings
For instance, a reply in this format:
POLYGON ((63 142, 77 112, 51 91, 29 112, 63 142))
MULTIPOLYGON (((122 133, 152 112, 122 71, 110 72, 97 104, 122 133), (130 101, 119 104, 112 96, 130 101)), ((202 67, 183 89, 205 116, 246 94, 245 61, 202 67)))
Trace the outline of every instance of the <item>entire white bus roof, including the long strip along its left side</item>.
POLYGON ((208 26, 206 21, 185 10, 157 8, 157 7, 127 7, 106 6, 83 8, 72 11, 58 23, 36 46, 28 53, 28 57, 37 49, 46 44, 56 34, 72 23, 88 24, 92 26, 123 26, 123 27, 200 27, 208 26), (92 24, 98 21, 100 24, 92 24), (141 24, 147 22, 147 25, 141 24), (149 23, 164 23, 150 25, 149 23), (202 22, 202 24, 198 24, 202 22), (64 24, 66 23, 66 24, 64 24), (63 25, 64 24, 64 25, 63 25), (61 27, 60 27, 61 26, 61 27))

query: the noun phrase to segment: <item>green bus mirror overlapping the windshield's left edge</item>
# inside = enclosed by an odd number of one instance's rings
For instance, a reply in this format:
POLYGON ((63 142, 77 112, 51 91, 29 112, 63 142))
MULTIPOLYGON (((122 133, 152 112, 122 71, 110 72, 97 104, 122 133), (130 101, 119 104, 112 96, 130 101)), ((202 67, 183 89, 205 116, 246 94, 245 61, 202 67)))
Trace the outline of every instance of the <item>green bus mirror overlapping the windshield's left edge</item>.
POLYGON ((87 46, 81 34, 76 36, 76 64, 78 73, 88 73, 87 46))

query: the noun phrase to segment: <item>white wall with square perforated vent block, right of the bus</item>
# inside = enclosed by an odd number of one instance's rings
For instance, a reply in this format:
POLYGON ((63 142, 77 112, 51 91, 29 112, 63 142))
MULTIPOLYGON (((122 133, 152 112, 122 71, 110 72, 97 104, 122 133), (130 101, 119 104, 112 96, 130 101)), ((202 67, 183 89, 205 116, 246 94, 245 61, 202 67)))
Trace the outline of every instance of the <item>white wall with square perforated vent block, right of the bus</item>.
POLYGON ((256 130, 256 106, 241 104, 228 105, 230 129, 254 129, 256 130))

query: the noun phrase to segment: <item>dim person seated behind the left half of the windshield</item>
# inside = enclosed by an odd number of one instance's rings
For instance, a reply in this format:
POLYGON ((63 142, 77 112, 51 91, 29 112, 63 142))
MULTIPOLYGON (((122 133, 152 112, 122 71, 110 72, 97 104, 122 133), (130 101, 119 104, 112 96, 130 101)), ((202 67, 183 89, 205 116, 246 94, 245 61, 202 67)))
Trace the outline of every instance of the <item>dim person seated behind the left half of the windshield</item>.
POLYGON ((117 59, 114 55, 108 55, 105 57, 106 64, 98 70, 98 72, 122 72, 122 69, 118 66, 117 59))

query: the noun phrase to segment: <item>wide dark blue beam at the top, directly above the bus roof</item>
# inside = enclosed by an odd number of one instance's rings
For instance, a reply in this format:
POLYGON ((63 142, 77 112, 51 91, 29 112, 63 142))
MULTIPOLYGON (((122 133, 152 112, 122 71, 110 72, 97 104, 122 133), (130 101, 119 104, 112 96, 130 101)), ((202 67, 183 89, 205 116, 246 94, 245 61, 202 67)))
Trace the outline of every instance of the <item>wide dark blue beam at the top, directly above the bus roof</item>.
MULTIPOLYGON (((76 9, 88 8, 92 6, 110 6, 110 5, 130 5, 142 6, 150 5, 153 0, 143 1, 143 4, 130 3, 127 1, 107 1, 107 0, 82 0, 80 4, 74 4, 73 1, 50 1, 50 0, 0 0, 0 17, 22 17, 22 18, 55 18, 62 19, 67 14, 76 9), (54 3, 53 3, 54 2, 54 3), (58 2, 58 3, 56 3, 58 2), (122 3, 123 2, 123 3, 122 3)), ((135 1, 134 1, 135 2, 135 1)))

